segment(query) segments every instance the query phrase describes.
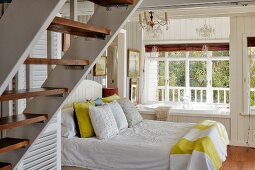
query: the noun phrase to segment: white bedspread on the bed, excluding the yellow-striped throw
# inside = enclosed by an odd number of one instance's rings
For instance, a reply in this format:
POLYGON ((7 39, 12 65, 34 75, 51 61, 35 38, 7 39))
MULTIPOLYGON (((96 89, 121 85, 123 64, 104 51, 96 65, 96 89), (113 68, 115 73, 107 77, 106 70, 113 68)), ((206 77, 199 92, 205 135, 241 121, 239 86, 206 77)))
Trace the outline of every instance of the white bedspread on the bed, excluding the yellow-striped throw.
POLYGON ((62 138, 62 166, 104 170, 169 169, 170 149, 193 125, 144 120, 107 140, 62 138))

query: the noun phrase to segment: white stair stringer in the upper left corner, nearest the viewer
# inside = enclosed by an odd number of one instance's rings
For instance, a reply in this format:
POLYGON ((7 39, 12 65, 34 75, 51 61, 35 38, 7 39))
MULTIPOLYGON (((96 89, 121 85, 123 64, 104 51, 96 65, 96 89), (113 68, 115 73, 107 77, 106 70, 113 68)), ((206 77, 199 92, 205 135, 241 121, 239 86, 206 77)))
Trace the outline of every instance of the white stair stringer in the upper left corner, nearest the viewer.
POLYGON ((66 0, 13 0, 0 19, 0 95, 66 0))

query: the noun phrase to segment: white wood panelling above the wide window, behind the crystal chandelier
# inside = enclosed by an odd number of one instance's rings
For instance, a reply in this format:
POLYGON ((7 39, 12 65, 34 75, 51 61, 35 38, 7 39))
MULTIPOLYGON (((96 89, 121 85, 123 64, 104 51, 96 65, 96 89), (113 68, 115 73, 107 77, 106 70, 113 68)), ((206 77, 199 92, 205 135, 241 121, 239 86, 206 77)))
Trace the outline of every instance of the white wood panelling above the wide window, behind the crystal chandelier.
POLYGON ((215 29, 215 33, 211 36, 210 41, 225 41, 229 40, 229 17, 210 17, 210 18, 184 18, 171 19, 169 29, 163 29, 163 34, 158 38, 151 38, 148 33, 144 31, 145 43, 152 41, 159 41, 159 43, 176 43, 183 42, 204 42, 202 37, 199 37, 196 29, 203 26, 205 23, 215 29))

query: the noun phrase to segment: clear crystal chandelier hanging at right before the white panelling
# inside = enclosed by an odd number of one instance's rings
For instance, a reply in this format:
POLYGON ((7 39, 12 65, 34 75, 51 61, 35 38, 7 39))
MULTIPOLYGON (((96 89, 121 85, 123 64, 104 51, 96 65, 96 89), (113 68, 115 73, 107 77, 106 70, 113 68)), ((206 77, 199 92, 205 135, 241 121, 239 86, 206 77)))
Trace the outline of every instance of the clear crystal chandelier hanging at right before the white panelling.
POLYGON ((215 33, 215 29, 212 26, 207 25, 205 22, 205 24, 197 28, 196 31, 198 36, 205 40, 202 51, 204 52, 204 56, 207 56, 208 46, 206 45, 206 40, 211 38, 211 36, 215 33))

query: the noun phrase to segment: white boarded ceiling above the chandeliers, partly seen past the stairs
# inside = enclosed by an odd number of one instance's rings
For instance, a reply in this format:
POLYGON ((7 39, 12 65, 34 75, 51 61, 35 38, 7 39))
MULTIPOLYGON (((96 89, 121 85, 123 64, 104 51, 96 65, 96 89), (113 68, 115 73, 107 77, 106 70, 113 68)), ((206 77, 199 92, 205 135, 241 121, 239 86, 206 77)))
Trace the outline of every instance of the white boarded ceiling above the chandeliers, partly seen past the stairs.
MULTIPOLYGON (((94 4, 78 0, 78 15, 92 15, 94 4)), ((69 15, 70 3, 66 3, 61 13, 69 15)), ((142 11, 153 10, 159 15, 167 12, 169 18, 217 17, 255 14, 255 0, 144 0, 131 21, 138 21, 142 11), (247 4, 247 6, 246 6, 247 4)))

